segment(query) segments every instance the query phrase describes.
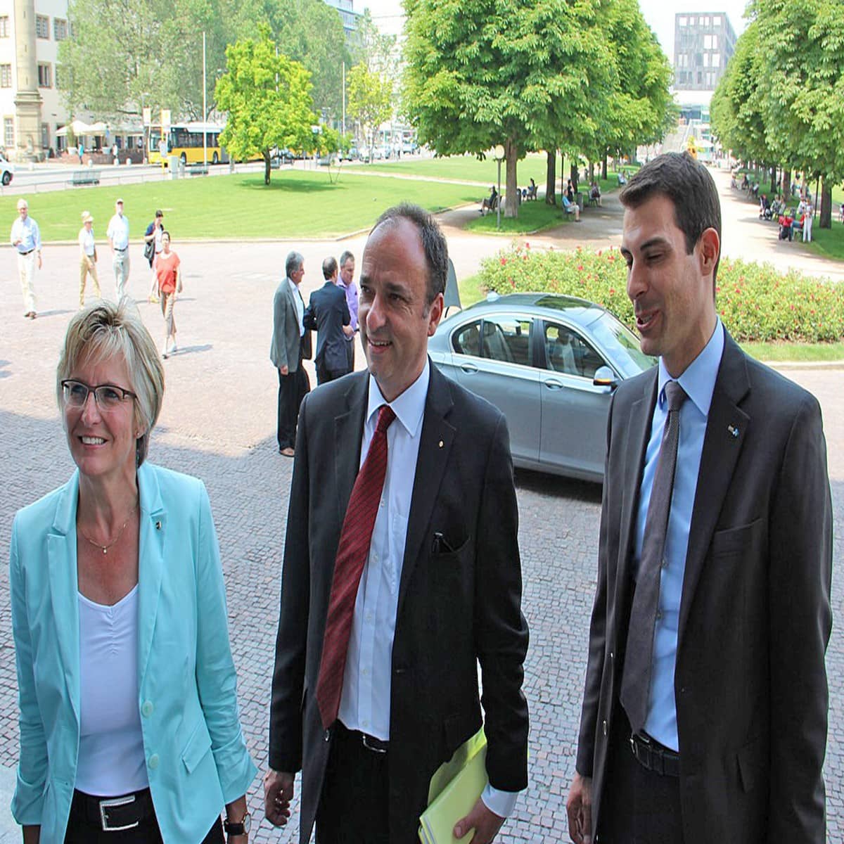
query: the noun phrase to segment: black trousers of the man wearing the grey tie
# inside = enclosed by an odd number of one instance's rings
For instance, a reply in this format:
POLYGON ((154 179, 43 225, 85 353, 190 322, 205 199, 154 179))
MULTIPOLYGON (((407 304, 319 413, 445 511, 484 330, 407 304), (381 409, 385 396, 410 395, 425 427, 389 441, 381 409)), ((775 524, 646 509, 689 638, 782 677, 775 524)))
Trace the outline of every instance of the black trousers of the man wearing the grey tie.
POLYGON ((598 817, 598 844, 683 844, 678 776, 641 766, 630 749, 630 724, 619 706, 598 817))

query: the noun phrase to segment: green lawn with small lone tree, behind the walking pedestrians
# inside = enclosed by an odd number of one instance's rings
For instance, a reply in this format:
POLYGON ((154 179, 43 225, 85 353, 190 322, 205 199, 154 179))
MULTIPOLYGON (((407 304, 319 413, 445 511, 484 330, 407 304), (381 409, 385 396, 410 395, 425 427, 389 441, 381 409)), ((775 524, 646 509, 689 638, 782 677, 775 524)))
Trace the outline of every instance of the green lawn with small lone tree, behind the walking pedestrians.
MULTIPOLYGON (((194 177, 120 187, 30 194, 30 214, 44 241, 75 241, 84 210, 94 215, 94 230, 102 241, 114 214, 116 197, 123 198, 138 240, 154 217, 165 212, 165 225, 175 243, 180 238, 331 237, 369 228, 382 211, 400 202, 419 203, 440 211, 479 199, 477 187, 436 181, 361 178, 341 171, 332 184, 327 170, 273 170, 273 182, 263 175, 194 177)), ((14 219, 18 197, 0 197, 0 219, 14 219)))

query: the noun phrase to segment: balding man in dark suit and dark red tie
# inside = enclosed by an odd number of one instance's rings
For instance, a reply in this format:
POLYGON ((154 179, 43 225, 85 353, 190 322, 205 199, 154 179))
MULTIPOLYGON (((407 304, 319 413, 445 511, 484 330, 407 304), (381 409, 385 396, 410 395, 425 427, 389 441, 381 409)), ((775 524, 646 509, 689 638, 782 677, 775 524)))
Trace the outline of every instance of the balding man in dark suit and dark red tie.
POLYGON ((302 404, 264 778, 280 825, 302 769, 301 844, 315 820, 320 844, 417 841, 431 775, 481 726, 478 663, 490 784, 459 836, 492 841, 527 785, 509 438, 430 365, 447 261, 429 214, 385 212, 360 275, 369 369, 302 404))

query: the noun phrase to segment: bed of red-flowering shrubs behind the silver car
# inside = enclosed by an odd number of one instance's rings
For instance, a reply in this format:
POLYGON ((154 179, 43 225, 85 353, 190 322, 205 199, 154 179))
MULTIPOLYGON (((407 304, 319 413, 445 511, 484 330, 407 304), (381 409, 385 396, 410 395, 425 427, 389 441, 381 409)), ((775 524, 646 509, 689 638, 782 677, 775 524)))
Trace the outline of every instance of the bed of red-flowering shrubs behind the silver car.
MULTIPOLYGON (((627 298, 627 268, 618 249, 598 252, 513 246, 481 262, 480 284, 496 293, 549 292, 580 296, 605 307, 636 331, 627 298)), ((844 284, 771 264, 723 260, 716 306, 739 342, 834 342, 844 338, 844 284)))

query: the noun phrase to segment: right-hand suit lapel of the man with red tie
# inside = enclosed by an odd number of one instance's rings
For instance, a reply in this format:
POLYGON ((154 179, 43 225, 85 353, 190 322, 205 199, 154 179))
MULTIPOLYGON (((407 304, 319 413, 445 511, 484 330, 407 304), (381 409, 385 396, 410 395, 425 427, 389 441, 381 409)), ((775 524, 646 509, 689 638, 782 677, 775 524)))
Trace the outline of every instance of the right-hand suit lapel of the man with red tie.
POLYGON ((414 490, 408 514, 408 533, 404 542, 402 578, 398 586, 397 618, 402 612, 410 576, 421 556, 422 544, 430 524, 434 503, 443 475, 446 473, 452 441, 457 433, 454 426, 446 421, 446 416, 452 408, 452 396, 445 376, 441 376, 434 365, 429 365, 430 383, 428 396, 425 399, 422 433, 419 436, 419 455, 416 458, 414 490))

